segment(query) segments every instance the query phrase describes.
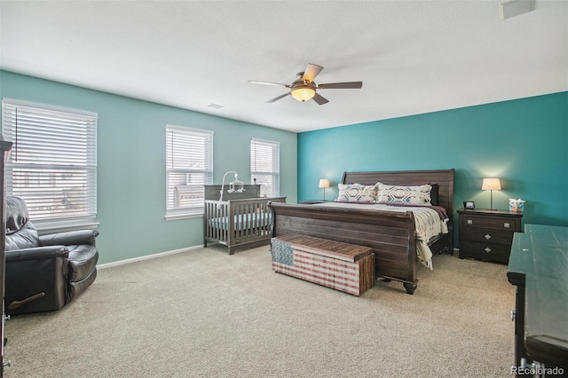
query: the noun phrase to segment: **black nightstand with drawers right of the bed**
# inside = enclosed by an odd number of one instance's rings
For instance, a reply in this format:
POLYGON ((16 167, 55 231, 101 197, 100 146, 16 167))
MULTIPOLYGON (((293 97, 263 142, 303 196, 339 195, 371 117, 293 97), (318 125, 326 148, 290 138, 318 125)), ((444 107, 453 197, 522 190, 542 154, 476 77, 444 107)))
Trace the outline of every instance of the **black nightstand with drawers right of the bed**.
POLYGON ((521 232, 523 213, 459 209, 460 258, 509 263, 513 234, 521 232))

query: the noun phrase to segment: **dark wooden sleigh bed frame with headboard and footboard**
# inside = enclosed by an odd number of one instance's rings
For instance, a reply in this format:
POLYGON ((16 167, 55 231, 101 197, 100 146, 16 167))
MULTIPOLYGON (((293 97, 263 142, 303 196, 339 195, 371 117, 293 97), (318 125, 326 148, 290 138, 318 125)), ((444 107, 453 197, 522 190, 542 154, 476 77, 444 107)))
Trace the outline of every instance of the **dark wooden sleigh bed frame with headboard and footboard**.
MULTIPOLYGON (((296 233, 371 247, 375 252, 375 275, 383 280, 398 280, 403 283, 406 293, 414 294, 418 287, 418 250, 425 247, 432 255, 454 252, 454 169, 344 172, 341 184, 375 183, 436 188, 436 203, 446 210, 446 219, 440 217, 446 230, 422 240, 423 235, 417 232, 415 222, 418 216, 414 213, 418 210, 409 205, 402 206, 406 209, 392 211, 372 209, 359 203, 353 203, 353 206, 272 203, 273 236, 296 233)), ((431 260, 424 263, 430 263, 431 268, 431 260)))

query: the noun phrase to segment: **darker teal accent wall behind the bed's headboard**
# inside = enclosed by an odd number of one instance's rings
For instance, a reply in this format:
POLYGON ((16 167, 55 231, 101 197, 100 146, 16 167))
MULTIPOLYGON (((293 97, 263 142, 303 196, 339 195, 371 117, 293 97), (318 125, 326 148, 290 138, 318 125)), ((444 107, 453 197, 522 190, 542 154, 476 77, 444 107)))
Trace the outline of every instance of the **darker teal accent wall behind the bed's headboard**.
POLYGON ((500 177, 493 208, 521 198, 524 223, 568 226, 568 92, 298 134, 299 200, 323 197, 319 178, 336 198, 345 170, 451 168, 455 209, 488 209, 481 182, 500 177))

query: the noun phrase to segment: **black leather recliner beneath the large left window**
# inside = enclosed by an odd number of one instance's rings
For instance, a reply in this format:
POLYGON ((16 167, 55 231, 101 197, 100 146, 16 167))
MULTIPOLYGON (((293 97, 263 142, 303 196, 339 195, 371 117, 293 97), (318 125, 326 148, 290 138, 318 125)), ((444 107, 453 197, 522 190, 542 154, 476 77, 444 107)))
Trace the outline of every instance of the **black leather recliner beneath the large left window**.
POLYGON ((26 202, 6 199, 6 314, 56 311, 97 277, 96 230, 38 236, 26 202))

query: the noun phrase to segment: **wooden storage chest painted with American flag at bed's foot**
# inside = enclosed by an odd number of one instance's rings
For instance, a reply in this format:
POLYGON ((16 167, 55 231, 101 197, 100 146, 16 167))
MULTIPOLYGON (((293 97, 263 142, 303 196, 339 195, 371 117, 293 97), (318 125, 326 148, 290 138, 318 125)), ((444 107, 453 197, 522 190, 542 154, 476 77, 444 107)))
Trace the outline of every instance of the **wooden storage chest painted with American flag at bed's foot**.
POLYGON ((375 285, 373 248, 296 234, 271 241, 275 272, 357 296, 375 285))

